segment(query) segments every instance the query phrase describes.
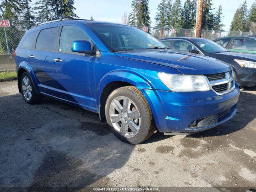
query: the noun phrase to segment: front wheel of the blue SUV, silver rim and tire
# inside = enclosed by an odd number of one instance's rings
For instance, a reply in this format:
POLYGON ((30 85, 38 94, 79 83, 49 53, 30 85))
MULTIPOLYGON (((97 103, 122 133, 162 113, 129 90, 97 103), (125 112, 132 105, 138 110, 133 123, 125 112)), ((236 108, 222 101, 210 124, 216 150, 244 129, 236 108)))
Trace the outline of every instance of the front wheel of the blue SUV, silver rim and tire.
POLYGON ((106 101, 105 114, 114 135, 126 143, 139 144, 154 133, 151 108, 134 86, 114 90, 106 101))

